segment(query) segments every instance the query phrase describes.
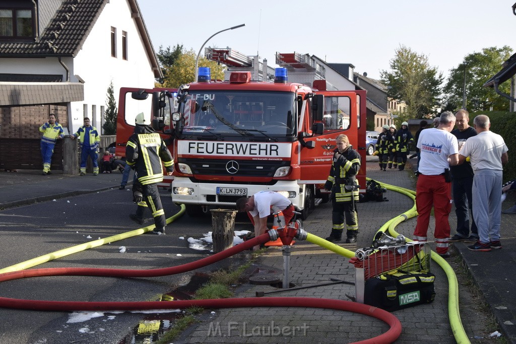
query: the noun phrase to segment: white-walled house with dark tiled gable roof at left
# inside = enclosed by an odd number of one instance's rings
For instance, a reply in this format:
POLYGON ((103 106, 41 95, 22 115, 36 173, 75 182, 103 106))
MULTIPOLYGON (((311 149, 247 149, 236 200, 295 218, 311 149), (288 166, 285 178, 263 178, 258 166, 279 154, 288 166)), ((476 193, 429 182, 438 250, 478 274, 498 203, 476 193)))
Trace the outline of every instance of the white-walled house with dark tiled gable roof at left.
POLYGON ((39 138, 49 113, 101 130, 111 81, 118 100, 162 76, 136 0, 0 2, 0 138, 39 138))

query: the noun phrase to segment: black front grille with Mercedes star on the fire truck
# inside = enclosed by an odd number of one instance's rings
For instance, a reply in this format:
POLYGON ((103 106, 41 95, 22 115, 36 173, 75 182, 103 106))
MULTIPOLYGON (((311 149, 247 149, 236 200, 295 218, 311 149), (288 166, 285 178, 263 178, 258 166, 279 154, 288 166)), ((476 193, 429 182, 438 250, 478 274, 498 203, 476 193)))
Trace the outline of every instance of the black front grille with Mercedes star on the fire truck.
POLYGON ((220 175, 220 176, 247 176, 270 177, 276 170, 289 166, 289 161, 268 160, 240 160, 240 159, 186 159, 178 162, 187 163, 193 175, 220 175), (230 171, 236 171, 230 173, 230 171))

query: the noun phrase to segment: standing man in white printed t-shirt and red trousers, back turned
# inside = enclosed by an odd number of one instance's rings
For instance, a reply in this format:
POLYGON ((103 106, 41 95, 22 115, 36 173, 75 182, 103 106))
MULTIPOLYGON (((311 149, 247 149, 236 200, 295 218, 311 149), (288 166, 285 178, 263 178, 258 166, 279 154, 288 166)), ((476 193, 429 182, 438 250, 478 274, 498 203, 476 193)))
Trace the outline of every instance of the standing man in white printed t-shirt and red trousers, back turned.
POLYGON ((416 208, 419 216, 414 230, 414 240, 427 241, 430 211, 434 211, 436 227, 436 251, 449 257, 448 238, 450 225, 448 215, 451 210, 451 174, 449 167, 459 162, 457 138, 450 132, 455 125, 455 116, 445 111, 439 118, 437 128, 425 129, 417 141, 421 152, 416 184, 416 208))

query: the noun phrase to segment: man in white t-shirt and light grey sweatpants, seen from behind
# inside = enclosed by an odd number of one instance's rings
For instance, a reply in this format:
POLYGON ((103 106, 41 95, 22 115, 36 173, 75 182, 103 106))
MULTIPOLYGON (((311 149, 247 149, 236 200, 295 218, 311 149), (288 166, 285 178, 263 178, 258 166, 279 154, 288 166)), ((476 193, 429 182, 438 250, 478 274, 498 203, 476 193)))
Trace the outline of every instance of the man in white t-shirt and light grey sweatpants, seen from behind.
POLYGON ((500 221, 502 209, 503 165, 509 160, 507 145, 502 136, 489 130, 491 123, 485 114, 473 120, 477 136, 470 137, 462 146, 459 163, 469 156, 473 168, 473 218, 479 239, 467 248, 472 251, 501 249, 500 221))

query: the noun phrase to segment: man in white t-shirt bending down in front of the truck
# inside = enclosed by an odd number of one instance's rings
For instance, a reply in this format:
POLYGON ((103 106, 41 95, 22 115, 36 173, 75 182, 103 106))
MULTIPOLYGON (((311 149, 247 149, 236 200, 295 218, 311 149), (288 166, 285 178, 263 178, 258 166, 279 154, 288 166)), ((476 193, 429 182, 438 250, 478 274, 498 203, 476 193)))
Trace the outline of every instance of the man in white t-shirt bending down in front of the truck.
MULTIPOLYGON (((288 224, 294 217, 292 202, 275 191, 260 191, 249 198, 239 198, 236 200, 236 208, 238 211, 248 212, 254 224, 255 236, 260 236, 267 231, 267 218, 273 212, 281 210, 285 224, 288 224)), ((254 247, 254 250, 259 249, 259 245, 254 247)))

